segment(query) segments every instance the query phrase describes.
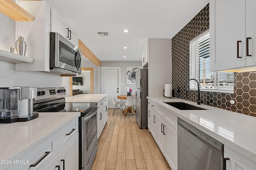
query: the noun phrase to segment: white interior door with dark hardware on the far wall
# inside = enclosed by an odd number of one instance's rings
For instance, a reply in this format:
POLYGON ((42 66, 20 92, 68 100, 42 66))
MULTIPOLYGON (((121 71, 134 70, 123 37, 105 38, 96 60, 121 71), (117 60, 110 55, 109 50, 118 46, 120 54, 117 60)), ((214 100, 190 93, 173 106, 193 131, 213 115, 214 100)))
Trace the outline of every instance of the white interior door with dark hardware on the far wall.
POLYGON ((103 68, 103 94, 108 94, 108 108, 114 108, 112 96, 120 95, 119 68, 103 68))

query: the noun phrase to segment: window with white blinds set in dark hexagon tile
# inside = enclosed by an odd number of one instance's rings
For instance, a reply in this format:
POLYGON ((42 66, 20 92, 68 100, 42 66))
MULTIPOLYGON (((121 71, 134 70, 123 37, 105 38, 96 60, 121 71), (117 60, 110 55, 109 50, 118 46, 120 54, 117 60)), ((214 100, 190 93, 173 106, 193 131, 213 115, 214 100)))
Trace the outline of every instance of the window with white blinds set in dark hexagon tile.
MULTIPOLYGON (((209 30, 190 41, 190 78, 195 78, 204 91, 234 92, 233 72, 210 72, 209 30)), ((190 90, 197 90, 196 81, 191 80, 190 90)))

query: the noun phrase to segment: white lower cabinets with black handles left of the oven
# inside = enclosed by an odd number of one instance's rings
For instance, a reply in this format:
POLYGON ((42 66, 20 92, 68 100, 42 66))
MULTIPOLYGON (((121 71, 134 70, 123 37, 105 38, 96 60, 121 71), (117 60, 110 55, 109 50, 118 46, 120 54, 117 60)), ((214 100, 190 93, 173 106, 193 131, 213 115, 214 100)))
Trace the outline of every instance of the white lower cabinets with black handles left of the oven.
POLYGON ((66 169, 78 170, 78 138, 77 119, 19 159, 24 163, 12 164, 7 170, 58 170, 56 166, 63 167, 64 162, 66 169))

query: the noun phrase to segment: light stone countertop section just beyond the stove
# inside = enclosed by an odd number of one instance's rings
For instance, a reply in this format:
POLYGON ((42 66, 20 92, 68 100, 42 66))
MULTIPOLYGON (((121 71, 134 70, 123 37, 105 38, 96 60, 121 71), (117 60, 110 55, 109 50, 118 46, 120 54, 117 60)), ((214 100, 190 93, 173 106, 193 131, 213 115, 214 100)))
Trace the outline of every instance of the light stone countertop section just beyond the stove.
POLYGON ((75 96, 69 96, 65 98, 66 102, 99 102, 108 94, 78 94, 75 96))

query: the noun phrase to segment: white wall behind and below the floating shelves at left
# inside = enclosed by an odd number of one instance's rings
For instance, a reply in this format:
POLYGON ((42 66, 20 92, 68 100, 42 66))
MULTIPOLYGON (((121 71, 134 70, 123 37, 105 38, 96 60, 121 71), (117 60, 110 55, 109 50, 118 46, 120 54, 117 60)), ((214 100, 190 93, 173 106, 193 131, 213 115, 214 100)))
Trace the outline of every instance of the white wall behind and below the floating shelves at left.
MULTIPOLYGON (((0 13, 0 49, 8 51, 15 41, 15 21, 0 13)), ((62 78, 48 72, 15 71, 14 63, 0 61, 0 87, 12 86, 62 86, 62 78)))

